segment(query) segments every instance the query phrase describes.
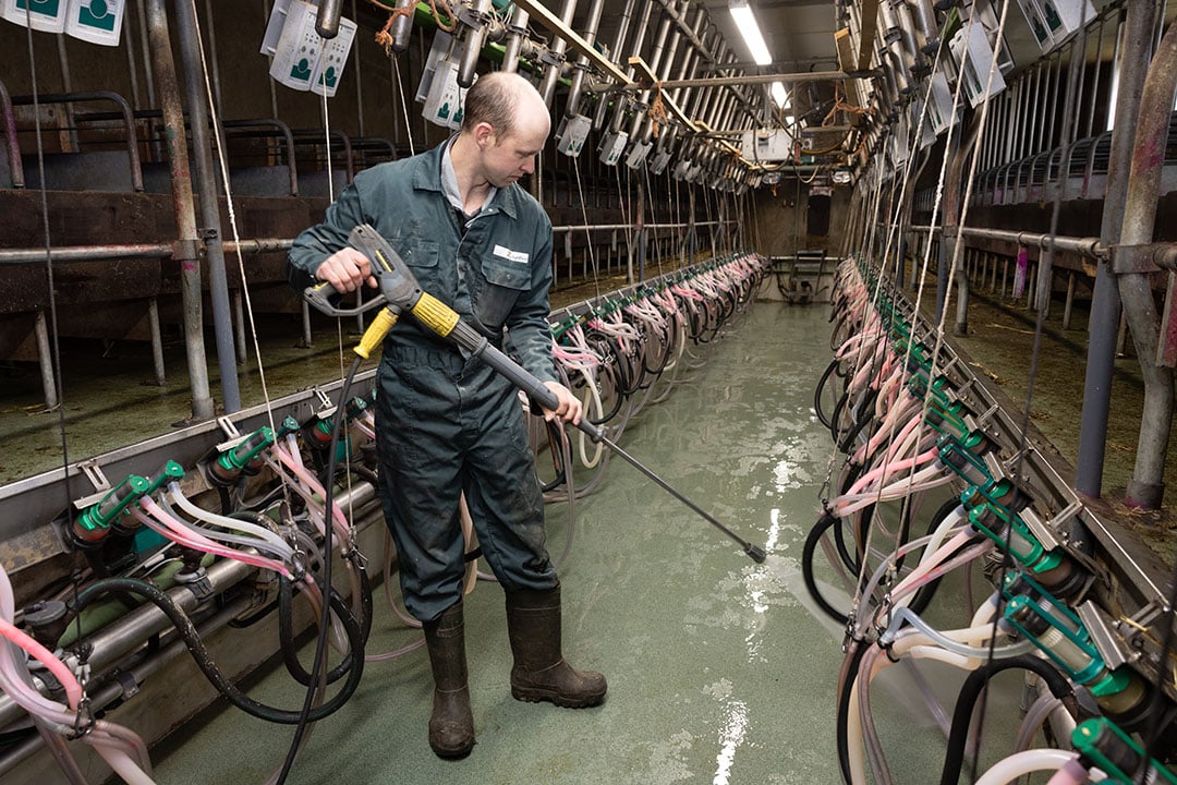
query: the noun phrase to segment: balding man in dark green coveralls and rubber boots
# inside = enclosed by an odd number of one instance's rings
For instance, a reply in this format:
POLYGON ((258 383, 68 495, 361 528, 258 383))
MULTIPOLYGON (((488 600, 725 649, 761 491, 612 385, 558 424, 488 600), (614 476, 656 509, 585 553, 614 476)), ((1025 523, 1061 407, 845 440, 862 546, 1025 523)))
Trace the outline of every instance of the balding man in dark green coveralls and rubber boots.
MULTIPOLYGON (((290 279, 299 290, 330 281, 340 292, 375 285, 367 258, 346 246, 371 224, 404 258, 421 288, 496 345, 504 327, 525 368, 556 394, 548 420, 578 423, 580 401, 556 381, 547 326, 552 225, 517 181, 534 171, 550 131, 539 93, 517 74, 492 73, 466 94, 461 131, 413 158, 383 164, 298 237, 290 279)), ((380 498, 397 544, 408 611, 421 620, 433 670, 430 745, 463 757, 474 745, 463 636, 466 494, 483 554, 506 593, 519 700, 594 706, 600 673, 577 671, 560 650, 560 586, 544 547, 543 495, 517 391, 417 325, 401 320, 378 371, 380 498)))

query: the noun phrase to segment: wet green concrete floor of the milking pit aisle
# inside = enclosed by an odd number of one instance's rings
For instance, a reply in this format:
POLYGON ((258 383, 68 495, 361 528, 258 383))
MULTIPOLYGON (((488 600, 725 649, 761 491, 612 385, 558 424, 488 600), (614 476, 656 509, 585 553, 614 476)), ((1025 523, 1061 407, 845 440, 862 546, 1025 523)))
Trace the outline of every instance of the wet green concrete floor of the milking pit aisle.
MULTIPOLYGON (((763 544, 764 565, 619 460, 603 488, 576 505, 561 570, 565 653, 609 677, 603 706, 573 711, 511 698, 501 591, 480 583, 466 611, 473 753, 443 761, 430 751, 431 680, 418 650, 367 666, 352 700, 314 730, 288 781, 838 781, 842 631, 817 617, 798 563, 831 454, 811 413, 830 352, 826 315, 826 306, 758 302, 707 347, 693 379, 624 435, 634 457, 763 544)), ((568 535, 566 514, 564 505, 548 507, 554 553, 568 535)), ((370 651, 419 634, 378 601, 370 651)), ((943 737, 922 706, 910 706, 910 693, 902 677, 880 685, 880 732, 897 781, 931 781, 943 737)), ((302 693, 280 670, 251 694, 295 706, 302 693)), ((292 729, 235 710, 210 713, 157 760, 160 783, 253 783, 278 769, 292 729)))

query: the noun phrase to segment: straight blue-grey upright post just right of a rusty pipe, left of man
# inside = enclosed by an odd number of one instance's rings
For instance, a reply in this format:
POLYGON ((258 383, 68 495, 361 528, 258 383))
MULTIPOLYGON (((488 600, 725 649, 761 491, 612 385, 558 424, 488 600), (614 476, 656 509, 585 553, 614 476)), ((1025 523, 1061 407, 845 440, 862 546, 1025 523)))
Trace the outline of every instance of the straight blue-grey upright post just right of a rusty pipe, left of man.
MULTIPOLYGON (((228 299, 228 275, 225 272, 225 248, 221 245, 220 201, 217 193, 217 169, 213 165, 212 140, 208 135, 208 104, 204 89, 201 52, 198 45, 198 21, 195 11, 187 0, 177 0, 175 22, 180 39, 180 60, 184 64, 185 86, 188 98, 189 126, 192 128, 192 158, 197 166, 197 193, 200 200, 200 221, 208 264, 208 295, 213 308, 213 334, 217 340, 217 365, 220 368, 221 403, 225 413, 241 408, 241 392, 237 379, 237 361, 233 346, 232 305, 228 299)), ((324 22, 324 8, 332 5, 324 1, 319 7, 319 25, 324 22)), ((339 27, 339 7, 335 4, 333 22, 339 27)), ((325 35, 324 38, 331 38, 325 35)), ((220 145, 224 149, 224 145, 220 145)), ((228 184, 225 184, 228 187, 228 184)))

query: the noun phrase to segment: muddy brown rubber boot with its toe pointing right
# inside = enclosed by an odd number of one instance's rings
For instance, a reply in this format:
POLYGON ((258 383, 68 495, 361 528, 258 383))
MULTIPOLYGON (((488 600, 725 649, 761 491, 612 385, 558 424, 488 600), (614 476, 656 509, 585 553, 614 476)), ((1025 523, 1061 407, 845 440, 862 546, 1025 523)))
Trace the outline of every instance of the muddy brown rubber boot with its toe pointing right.
POLYGON ((557 706, 584 709, 605 700, 605 677, 578 671, 560 650, 560 587, 506 593, 507 633, 514 667, 511 694, 516 700, 550 700, 557 706))

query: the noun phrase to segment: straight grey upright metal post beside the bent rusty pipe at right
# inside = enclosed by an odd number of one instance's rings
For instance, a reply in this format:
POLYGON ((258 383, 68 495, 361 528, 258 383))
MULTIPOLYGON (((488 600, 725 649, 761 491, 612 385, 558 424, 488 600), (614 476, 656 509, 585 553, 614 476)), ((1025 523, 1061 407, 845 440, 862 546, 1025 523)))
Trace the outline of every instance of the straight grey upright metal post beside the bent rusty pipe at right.
MULTIPOLYGON (((1152 0, 1129 0, 1123 47, 1121 47, 1119 93, 1116 122, 1111 132, 1108 185, 1104 192, 1099 240, 1104 247, 1121 241, 1124 202, 1132 162, 1132 129, 1144 92, 1144 75, 1152 51, 1152 0)), ((1116 364, 1116 331, 1119 325, 1121 292, 1106 264, 1096 268, 1096 281, 1088 325, 1088 365, 1083 386, 1083 414, 1079 423, 1079 450, 1075 467, 1075 490, 1099 497, 1103 485, 1104 451, 1111 410, 1111 378, 1116 364)))

